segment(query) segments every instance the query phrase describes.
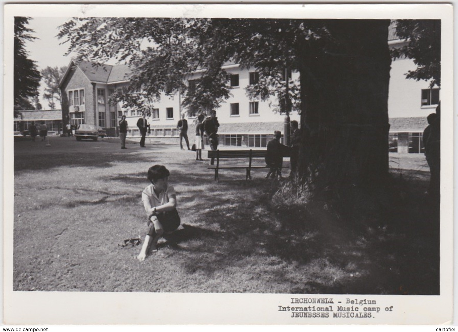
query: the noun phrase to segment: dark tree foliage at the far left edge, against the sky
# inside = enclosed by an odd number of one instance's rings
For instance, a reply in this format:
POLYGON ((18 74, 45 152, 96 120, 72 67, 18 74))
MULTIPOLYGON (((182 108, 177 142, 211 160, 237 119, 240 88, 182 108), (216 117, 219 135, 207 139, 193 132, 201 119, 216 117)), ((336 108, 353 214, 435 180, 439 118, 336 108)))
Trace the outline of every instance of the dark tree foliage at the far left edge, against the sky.
POLYGON ((14 18, 14 104, 24 105, 24 98, 38 95, 40 72, 35 61, 27 58, 26 41, 37 39, 27 27, 29 17, 14 18))

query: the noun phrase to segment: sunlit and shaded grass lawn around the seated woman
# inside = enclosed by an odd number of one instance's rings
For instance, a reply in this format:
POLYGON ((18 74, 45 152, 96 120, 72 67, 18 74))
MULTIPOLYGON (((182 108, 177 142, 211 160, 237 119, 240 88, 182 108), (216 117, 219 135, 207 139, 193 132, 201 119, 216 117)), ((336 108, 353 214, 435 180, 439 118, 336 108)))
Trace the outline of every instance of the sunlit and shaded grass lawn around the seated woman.
POLYGON ((177 146, 35 143, 15 142, 14 290, 439 294, 439 223, 424 162, 393 169, 393 195, 356 216, 334 202, 275 206, 284 183, 262 170, 248 181, 224 170, 215 183, 208 162, 177 146), (139 262, 141 246, 120 243, 144 239, 141 192, 157 163, 170 170, 184 229, 139 262))

